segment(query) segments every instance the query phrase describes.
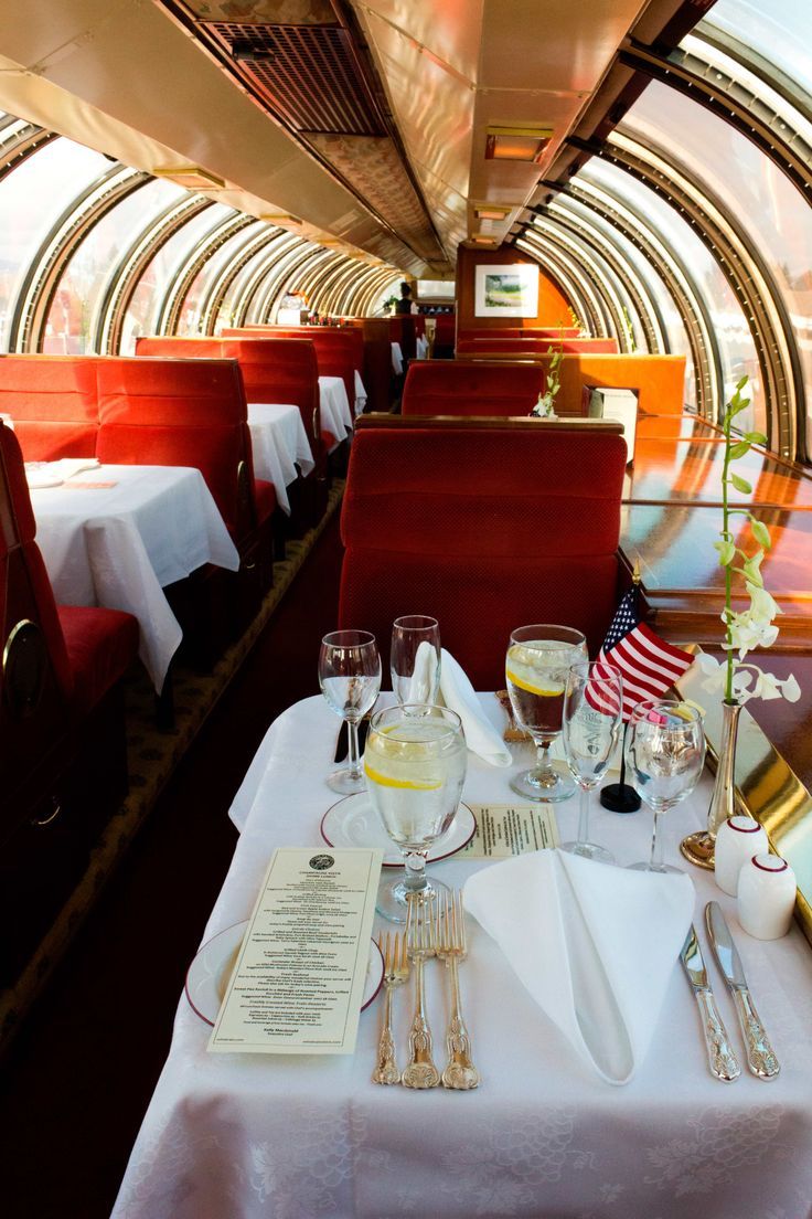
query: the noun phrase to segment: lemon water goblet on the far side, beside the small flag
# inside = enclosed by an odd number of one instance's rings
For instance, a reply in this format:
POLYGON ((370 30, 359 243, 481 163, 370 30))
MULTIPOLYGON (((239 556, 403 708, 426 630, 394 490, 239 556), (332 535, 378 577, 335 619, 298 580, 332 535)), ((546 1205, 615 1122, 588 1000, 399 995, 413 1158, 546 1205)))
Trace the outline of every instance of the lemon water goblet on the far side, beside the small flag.
POLYGON ((581 659, 587 659, 587 641, 571 627, 519 627, 510 636, 505 659, 510 706, 538 753, 536 766, 510 781, 526 800, 566 800, 575 791, 567 767, 550 762, 550 745, 561 731, 570 666, 581 659))

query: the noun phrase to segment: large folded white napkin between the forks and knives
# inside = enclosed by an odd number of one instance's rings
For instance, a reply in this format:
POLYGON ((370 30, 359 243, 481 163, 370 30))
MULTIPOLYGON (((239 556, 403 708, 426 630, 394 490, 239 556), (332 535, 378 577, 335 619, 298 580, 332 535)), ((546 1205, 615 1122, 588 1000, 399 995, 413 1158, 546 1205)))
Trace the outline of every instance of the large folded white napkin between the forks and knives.
POLYGON ((690 926, 690 878, 537 851, 475 873, 464 901, 582 1058, 627 1084, 690 926))

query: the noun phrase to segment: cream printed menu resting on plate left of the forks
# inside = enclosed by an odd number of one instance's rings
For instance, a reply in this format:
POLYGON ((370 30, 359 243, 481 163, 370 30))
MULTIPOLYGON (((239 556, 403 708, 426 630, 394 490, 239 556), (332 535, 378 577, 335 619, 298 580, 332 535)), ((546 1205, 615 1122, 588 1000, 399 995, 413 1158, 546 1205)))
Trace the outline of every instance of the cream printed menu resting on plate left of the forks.
POLYGON ((274 852, 211 1051, 353 1052, 381 859, 376 850, 274 852))

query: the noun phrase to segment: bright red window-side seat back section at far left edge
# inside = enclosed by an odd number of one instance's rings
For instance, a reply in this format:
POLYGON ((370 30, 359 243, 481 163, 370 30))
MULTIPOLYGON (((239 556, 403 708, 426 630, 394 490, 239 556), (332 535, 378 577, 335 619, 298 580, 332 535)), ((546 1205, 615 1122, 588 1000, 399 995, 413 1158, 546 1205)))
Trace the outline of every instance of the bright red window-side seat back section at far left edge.
POLYGON ((96 451, 91 356, 0 356, 0 412, 13 419, 26 461, 93 457, 96 451))

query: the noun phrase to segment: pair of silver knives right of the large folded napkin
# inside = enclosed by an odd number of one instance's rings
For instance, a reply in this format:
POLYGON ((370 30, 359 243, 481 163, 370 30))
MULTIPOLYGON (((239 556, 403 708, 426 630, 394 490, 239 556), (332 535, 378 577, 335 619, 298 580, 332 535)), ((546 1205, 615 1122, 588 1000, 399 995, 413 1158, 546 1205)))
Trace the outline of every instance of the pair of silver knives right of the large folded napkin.
MULTIPOLYGON (((709 902, 705 907, 705 924, 713 956, 733 996, 744 1036, 747 1067, 757 1079, 775 1079, 780 1070, 778 1058, 752 1002, 741 959, 718 902, 709 902)), ((741 1074, 741 1068, 707 979, 696 929, 693 925, 679 953, 679 961, 699 1007, 711 1075, 724 1084, 732 1084, 741 1074)))

